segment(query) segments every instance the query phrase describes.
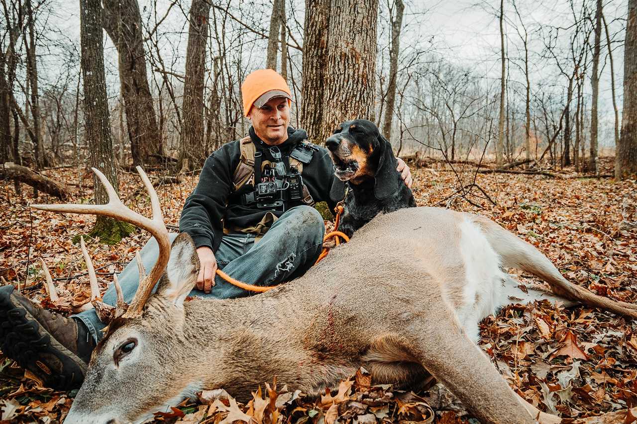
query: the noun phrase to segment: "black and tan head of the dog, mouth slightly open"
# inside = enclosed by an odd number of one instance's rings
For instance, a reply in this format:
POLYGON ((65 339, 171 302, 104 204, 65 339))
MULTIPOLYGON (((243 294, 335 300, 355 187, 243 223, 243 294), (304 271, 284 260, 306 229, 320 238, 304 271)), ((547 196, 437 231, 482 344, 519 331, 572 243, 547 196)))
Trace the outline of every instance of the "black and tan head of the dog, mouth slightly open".
POLYGON ((385 199, 399 189, 400 178, 392 146, 373 122, 366 119, 343 122, 325 145, 339 180, 360 184, 375 179, 376 199, 385 199))

